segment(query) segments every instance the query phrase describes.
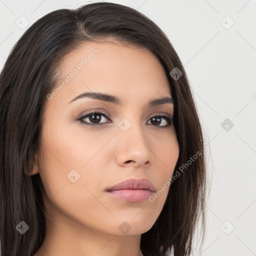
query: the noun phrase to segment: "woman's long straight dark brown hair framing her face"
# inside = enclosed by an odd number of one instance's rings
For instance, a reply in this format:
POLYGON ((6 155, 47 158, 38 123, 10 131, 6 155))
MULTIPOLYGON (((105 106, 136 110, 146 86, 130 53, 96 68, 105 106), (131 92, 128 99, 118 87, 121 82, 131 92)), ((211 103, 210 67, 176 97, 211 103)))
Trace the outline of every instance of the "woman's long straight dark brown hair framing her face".
MULTIPOLYGON (((32 24, 11 50, 0 74, 0 242, 1 256, 31 256, 45 235, 39 173, 29 175, 40 149, 42 112, 55 84, 61 58, 84 42, 114 38, 149 49, 159 59, 174 99, 173 122, 179 144, 179 168, 196 152, 201 157, 171 183, 160 215, 141 234, 144 256, 189 255, 201 217, 205 230, 205 156, 202 129, 181 61, 160 28, 140 12, 98 2, 58 9, 32 24), (169 72, 177 67, 176 80, 169 72), (23 220, 29 231, 20 234, 23 220)), ((173 172, 173 175, 175 171, 173 172)))

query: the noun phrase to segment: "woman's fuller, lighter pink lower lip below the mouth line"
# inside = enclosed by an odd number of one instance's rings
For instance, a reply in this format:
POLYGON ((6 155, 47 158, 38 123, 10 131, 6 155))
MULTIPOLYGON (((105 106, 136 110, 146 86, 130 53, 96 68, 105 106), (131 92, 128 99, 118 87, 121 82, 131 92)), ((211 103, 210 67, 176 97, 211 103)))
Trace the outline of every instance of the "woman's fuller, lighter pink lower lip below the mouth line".
POLYGON ((107 191, 107 193, 128 202, 142 202, 152 195, 152 191, 148 189, 119 189, 107 191))

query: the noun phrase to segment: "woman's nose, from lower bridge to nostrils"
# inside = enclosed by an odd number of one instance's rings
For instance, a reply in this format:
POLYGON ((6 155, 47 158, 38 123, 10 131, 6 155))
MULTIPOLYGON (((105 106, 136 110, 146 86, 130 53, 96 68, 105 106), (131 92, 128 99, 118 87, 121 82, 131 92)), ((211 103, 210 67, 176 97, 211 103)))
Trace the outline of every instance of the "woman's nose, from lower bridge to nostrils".
POLYGON ((136 168, 149 166, 153 162, 149 138, 142 133, 141 127, 132 125, 127 131, 117 133, 117 150, 115 160, 120 166, 134 166, 136 168))

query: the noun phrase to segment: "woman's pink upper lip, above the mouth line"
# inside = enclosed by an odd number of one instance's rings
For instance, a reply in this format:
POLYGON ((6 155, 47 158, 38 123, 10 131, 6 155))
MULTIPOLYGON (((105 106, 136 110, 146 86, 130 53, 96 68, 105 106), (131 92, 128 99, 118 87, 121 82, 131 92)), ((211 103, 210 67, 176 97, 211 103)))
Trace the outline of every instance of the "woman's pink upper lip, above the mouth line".
POLYGON ((109 188, 106 189, 106 191, 111 190, 120 190, 120 189, 148 189, 152 192, 154 192, 155 188, 154 185, 146 178, 140 178, 140 179, 127 179, 122 182, 119 182, 109 188))

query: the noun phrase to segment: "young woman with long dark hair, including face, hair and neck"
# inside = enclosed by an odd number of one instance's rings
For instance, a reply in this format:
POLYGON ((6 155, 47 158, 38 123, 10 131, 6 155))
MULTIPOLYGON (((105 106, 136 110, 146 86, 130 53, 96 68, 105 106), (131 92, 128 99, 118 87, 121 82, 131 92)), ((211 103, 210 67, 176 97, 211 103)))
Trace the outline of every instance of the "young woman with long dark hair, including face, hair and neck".
POLYGON ((0 74, 2 256, 189 255, 203 136, 184 68, 120 4, 59 9, 0 74))

